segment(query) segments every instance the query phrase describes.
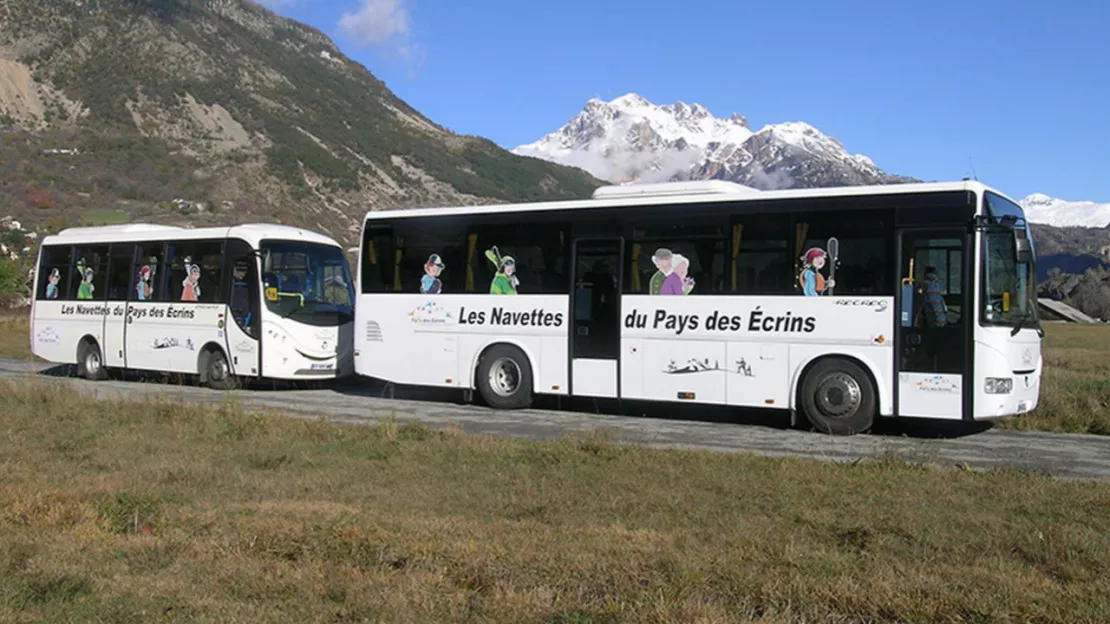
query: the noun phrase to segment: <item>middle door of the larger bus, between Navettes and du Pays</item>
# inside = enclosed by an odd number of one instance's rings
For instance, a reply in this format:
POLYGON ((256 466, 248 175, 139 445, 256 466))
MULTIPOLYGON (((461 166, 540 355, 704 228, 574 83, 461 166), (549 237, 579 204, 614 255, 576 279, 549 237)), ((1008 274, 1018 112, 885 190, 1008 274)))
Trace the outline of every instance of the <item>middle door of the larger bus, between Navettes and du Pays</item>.
POLYGON ((571 393, 616 397, 623 239, 576 240, 572 258, 571 393))

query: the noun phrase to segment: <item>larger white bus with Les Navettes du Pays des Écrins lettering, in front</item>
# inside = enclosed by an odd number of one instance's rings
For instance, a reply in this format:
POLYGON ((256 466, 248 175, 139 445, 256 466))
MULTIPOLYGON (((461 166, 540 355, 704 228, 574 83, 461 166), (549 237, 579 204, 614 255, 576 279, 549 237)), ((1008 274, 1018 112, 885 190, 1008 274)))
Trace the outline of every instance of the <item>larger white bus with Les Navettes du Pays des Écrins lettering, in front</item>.
POLYGON ((370 212, 355 372, 503 409, 784 409, 835 434, 990 420, 1037 406, 1033 264, 1021 208, 971 181, 370 212))

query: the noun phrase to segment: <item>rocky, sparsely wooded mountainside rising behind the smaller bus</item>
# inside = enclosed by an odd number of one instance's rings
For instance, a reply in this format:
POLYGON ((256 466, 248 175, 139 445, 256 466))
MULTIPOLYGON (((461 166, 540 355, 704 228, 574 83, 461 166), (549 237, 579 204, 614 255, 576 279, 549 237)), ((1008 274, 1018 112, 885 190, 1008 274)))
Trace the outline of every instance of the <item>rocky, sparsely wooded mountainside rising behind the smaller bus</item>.
POLYGON ((320 31, 249 0, 3 0, 0 214, 265 219, 587 195, 582 170, 455 134, 320 31))

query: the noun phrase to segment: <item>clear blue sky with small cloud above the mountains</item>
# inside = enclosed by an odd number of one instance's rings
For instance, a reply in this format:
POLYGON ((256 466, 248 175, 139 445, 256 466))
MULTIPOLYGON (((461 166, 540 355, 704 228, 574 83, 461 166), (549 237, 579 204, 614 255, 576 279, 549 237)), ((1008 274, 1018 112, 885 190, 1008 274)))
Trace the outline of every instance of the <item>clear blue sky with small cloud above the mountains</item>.
POLYGON ((269 0, 437 123, 506 148, 592 97, 806 121, 882 169, 1110 201, 1098 0, 269 0))

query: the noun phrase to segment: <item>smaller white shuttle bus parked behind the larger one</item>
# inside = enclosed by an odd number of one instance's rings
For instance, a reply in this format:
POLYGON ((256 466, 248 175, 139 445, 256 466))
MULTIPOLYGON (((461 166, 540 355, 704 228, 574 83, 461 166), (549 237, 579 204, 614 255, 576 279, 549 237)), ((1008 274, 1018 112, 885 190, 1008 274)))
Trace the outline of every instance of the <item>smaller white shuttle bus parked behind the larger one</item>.
POLYGON ((31 351, 107 369, 240 379, 353 372, 354 288, 343 249, 284 225, 73 228, 39 250, 31 351))

